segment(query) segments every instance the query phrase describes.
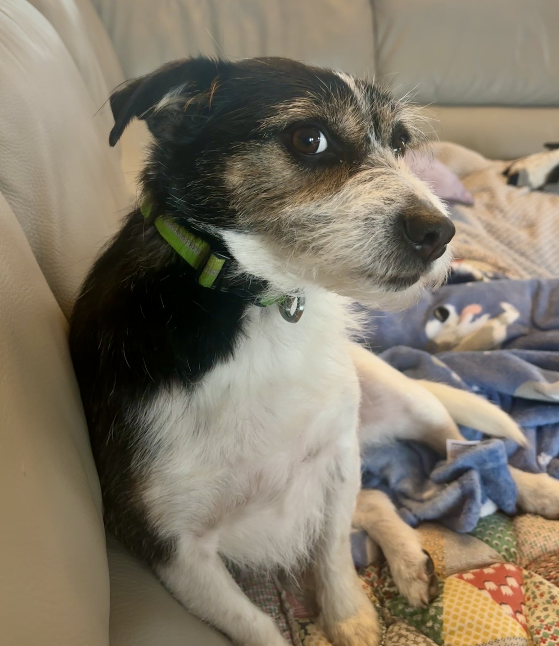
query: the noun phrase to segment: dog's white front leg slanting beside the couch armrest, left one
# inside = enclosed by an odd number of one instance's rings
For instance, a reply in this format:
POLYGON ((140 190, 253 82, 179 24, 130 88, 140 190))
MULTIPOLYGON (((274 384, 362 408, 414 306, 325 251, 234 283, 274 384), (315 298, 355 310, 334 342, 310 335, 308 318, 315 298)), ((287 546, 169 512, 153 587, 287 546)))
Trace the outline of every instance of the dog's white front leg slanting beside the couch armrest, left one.
POLYGON ((158 574, 182 605, 237 646, 288 646, 273 620, 235 583, 211 541, 183 538, 158 574))

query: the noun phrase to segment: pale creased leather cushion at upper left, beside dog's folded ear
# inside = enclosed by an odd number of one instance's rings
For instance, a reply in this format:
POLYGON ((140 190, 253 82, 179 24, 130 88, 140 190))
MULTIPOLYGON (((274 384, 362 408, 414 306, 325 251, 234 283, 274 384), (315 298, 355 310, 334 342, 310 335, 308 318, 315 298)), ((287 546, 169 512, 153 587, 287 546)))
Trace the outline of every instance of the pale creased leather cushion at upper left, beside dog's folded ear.
POLYGON ((0 8, 0 192, 68 315, 130 202, 119 156, 52 25, 25 0, 0 8))

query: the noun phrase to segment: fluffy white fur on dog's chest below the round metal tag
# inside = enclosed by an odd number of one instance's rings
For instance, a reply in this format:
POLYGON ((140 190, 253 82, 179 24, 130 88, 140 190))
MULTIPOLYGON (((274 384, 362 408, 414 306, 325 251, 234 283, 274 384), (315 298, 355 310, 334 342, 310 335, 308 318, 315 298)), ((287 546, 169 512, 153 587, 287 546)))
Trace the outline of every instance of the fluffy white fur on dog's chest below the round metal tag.
POLYGON ((359 384, 343 305, 308 296, 293 325, 253 307, 235 357, 149 421, 143 500, 160 532, 250 565, 292 567, 321 530, 335 480, 359 487, 359 384))

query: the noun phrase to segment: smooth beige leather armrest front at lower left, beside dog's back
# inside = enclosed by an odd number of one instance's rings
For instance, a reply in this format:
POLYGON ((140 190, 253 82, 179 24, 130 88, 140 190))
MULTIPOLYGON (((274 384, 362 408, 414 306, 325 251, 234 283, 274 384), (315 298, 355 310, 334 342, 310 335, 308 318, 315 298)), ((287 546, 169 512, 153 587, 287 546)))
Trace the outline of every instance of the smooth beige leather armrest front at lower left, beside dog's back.
POLYGON ((0 642, 108 646, 100 487, 67 322, 0 194, 0 642))

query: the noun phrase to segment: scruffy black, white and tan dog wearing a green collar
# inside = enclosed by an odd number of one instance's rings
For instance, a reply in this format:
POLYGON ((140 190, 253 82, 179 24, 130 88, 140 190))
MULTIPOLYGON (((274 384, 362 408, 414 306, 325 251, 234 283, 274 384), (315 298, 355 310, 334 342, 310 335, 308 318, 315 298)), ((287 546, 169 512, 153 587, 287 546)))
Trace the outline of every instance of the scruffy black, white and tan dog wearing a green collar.
MULTIPOLYGON (((424 143, 421 115, 279 58, 176 61, 110 102, 111 145, 132 118, 154 144, 70 325, 107 528, 237 644, 286 642, 228 563, 310 567, 328 639, 375 646, 349 536, 362 392, 374 401, 384 377, 352 340, 351 304, 406 307, 447 275, 454 226, 402 159, 424 143)), ((377 441, 390 424, 370 415, 377 441)), ((403 549, 421 580, 425 555, 403 549)))

